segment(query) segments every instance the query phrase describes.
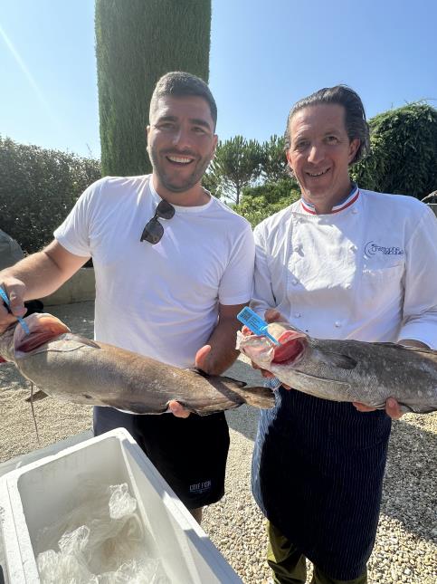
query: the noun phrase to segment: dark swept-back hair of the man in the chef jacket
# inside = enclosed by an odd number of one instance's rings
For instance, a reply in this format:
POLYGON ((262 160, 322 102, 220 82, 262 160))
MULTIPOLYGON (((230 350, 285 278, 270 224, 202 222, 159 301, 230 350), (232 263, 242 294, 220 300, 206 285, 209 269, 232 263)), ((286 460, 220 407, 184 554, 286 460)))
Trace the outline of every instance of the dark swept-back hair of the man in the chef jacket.
POLYGON ((330 103, 341 105, 345 108, 347 136, 350 141, 356 138, 360 141, 355 158, 350 162, 350 164, 354 164, 363 158, 370 148, 369 125, 361 98, 356 91, 351 90, 347 85, 325 87, 322 90, 311 93, 311 95, 293 105, 287 119, 287 128, 285 129, 285 148, 288 150, 291 146, 290 123, 293 116, 303 108, 330 103))

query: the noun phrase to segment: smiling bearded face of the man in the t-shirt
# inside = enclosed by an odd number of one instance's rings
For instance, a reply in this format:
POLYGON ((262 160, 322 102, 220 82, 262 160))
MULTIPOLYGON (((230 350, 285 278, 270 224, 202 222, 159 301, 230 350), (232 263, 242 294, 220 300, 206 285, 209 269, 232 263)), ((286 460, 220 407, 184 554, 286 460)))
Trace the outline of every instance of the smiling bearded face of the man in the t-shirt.
POLYGON ((199 185, 216 145, 214 120, 204 98, 160 98, 147 126, 147 151, 158 194, 185 193, 199 185))

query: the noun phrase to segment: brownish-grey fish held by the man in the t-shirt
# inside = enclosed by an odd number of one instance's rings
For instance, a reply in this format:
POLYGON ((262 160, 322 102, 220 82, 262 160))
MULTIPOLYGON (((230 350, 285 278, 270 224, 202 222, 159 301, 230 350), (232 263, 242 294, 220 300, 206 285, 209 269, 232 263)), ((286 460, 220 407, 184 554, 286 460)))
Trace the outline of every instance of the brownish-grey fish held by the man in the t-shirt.
MULTIPOLYGON (((171 399, 201 416, 246 403, 267 408, 267 388, 233 378, 178 369, 125 349, 71 334, 51 314, 34 313, 0 336, 0 356, 37 388, 76 404, 110 406, 134 414, 162 414, 171 399)), ((0 359, 1 360, 1 359, 0 359)))

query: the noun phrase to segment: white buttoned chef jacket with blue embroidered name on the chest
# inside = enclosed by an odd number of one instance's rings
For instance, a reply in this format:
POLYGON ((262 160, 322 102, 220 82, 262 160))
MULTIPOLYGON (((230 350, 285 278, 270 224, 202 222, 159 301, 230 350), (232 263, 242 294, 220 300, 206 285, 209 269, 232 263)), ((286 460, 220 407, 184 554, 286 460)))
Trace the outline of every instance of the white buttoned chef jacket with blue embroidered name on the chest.
POLYGON ((437 348, 437 219, 411 196, 359 189, 335 213, 301 200, 254 230, 252 308, 320 339, 437 348))

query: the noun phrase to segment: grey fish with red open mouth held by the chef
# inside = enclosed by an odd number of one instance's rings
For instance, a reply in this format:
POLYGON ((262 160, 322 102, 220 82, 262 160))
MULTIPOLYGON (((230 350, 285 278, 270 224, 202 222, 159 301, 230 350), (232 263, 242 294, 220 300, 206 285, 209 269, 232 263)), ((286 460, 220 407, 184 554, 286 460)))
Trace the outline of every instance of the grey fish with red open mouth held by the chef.
POLYGON ((291 388, 334 401, 384 408, 394 397, 404 412, 437 410, 437 351, 394 343, 312 339, 289 324, 268 331, 279 346, 237 333, 237 349, 291 388))

